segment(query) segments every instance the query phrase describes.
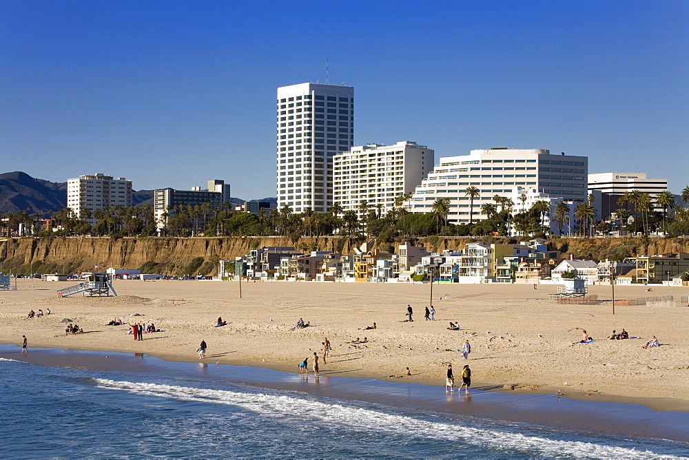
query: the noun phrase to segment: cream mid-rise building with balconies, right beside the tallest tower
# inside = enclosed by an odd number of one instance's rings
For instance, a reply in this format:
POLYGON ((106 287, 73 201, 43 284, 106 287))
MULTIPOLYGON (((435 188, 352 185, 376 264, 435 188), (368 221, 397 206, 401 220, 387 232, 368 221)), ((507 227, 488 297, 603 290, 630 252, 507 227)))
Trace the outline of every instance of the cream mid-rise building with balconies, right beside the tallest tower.
POLYGON ((395 145, 351 147, 333 156, 333 202, 344 211, 367 202, 371 209, 383 205, 384 214, 395 205, 395 196, 414 188, 433 169, 435 152, 409 140, 395 145))

